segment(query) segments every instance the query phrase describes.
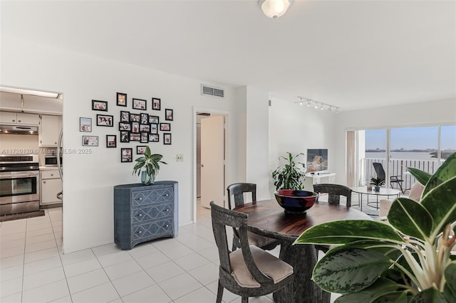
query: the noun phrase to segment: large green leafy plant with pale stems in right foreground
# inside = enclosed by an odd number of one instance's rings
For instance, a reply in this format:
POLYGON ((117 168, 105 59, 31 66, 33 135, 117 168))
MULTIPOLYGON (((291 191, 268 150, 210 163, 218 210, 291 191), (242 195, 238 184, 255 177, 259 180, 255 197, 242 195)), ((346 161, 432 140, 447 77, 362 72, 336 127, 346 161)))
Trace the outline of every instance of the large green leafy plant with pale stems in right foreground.
POLYGON ((346 302, 456 302, 456 153, 425 184, 420 203, 396 198, 387 222, 341 220, 306 230, 295 243, 336 245, 312 279, 346 302))

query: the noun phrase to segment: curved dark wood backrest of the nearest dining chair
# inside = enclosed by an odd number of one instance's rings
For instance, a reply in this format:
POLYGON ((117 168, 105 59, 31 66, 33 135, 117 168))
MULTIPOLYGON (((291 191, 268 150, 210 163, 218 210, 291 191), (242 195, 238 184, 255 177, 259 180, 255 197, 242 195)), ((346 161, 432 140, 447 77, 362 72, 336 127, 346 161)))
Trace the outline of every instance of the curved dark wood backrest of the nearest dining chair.
MULTIPOLYGON (((232 268, 229 262, 229 248, 227 242, 227 226, 238 228, 239 242, 241 243, 242 256, 244 257, 245 265, 252 274, 252 277, 260 284, 271 284, 274 281, 266 277, 257 267, 252 257, 252 252, 249 248, 249 240, 247 240, 247 213, 239 213, 231 211, 222 206, 218 206, 214 201, 210 202, 212 230, 214 232, 215 243, 219 250, 220 268, 224 270, 227 275, 231 275, 232 268)), ((227 276, 225 275, 225 277, 227 276)), ((233 277, 234 282, 234 277, 233 277)), ((236 282, 234 282, 236 283, 236 282)))

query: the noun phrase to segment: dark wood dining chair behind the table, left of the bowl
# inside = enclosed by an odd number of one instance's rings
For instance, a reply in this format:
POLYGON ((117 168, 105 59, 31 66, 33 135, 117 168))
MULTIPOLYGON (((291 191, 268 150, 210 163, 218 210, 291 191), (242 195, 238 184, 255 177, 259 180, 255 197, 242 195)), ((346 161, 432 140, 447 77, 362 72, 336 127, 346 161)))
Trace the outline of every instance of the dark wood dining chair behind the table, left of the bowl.
MULTIPOLYGON (((232 209, 232 197, 234 198, 234 207, 244 205, 244 193, 252 195, 252 202, 257 201, 257 184, 253 183, 234 183, 227 187, 228 192, 228 208, 232 209)), ((256 233, 247 232, 249 243, 264 250, 273 250, 277 245, 280 245, 279 240, 257 235, 256 233)), ((233 228, 233 245, 232 250, 240 248, 239 234, 236 228, 233 228)))

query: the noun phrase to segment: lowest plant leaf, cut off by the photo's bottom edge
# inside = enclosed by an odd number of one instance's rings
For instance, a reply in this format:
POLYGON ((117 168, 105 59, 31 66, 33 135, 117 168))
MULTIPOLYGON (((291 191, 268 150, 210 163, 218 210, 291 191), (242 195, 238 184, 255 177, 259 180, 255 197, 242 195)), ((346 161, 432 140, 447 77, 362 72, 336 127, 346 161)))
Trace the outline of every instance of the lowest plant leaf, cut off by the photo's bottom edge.
MULTIPOLYGON (((402 285, 398 285, 396 282, 379 278, 373 285, 351 294, 344 294, 342 297, 338 297, 335 303, 359 303, 359 302, 372 302, 384 294, 395 293, 395 290, 399 289, 402 285)), ((403 292, 397 292, 398 297, 403 292)), ((405 301, 407 302, 407 301, 405 301)))

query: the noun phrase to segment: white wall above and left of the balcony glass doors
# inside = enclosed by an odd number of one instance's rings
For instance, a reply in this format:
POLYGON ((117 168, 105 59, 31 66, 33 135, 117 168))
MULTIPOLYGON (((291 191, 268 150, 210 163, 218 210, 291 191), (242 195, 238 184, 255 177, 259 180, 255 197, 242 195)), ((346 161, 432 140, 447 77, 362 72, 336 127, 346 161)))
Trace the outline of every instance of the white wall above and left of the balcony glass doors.
POLYGON ((346 183, 346 131, 437 124, 456 124, 456 100, 440 100, 409 105, 378 107, 368 110, 339 112, 335 136, 337 156, 334 169, 338 183, 346 183))

